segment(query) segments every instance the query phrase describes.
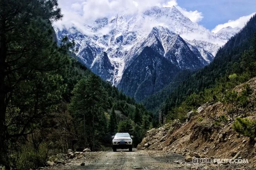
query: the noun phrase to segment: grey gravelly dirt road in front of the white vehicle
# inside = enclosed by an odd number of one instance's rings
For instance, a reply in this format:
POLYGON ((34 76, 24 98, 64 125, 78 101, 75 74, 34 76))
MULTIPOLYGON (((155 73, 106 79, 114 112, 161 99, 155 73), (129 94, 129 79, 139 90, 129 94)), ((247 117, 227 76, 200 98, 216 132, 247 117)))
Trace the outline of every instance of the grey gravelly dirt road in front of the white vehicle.
POLYGON ((162 151, 144 151, 133 149, 133 152, 128 150, 118 150, 117 152, 89 152, 83 156, 77 156, 69 159, 65 164, 58 164, 44 169, 58 170, 191 170, 191 169, 211 169, 224 170, 233 169, 227 165, 216 164, 195 164, 185 162, 185 156, 174 153, 166 153, 162 151), (84 163, 81 166, 81 163, 84 163))

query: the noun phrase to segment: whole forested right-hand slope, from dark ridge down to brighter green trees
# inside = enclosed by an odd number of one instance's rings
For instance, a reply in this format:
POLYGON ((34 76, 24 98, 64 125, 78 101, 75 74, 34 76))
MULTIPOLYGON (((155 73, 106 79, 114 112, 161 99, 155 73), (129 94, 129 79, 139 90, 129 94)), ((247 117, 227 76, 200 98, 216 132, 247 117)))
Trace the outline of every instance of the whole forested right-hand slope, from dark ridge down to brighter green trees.
POLYGON ((142 103, 154 113, 168 115, 170 111, 177 110, 184 101, 185 103, 191 102, 189 100, 196 101, 192 104, 193 107, 183 108, 185 114, 190 109, 207 102, 204 100, 207 95, 211 96, 210 99, 217 100, 212 97, 218 88, 222 91, 231 88, 226 87, 226 83, 231 81, 229 77, 231 74, 237 75, 235 84, 254 77, 255 32, 256 16, 254 15, 239 33, 219 49, 215 59, 208 66, 196 72, 180 73, 166 88, 147 97, 142 103))

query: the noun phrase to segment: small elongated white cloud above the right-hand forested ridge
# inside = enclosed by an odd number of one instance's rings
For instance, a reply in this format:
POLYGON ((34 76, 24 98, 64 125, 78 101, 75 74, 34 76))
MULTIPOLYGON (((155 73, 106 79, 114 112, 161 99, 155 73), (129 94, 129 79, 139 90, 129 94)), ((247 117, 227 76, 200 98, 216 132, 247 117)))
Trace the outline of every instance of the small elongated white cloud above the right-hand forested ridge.
POLYGON ((229 20, 226 23, 223 24, 219 24, 217 25, 212 32, 213 33, 217 33, 220 29, 225 28, 225 27, 239 27, 239 28, 243 28, 245 26, 245 24, 247 23, 247 21, 249 21, 249 19, 254 15, 255 13, 252 13, 250 15, 246 15, 246 16, 241 16, 240 18, 236 19, 236 20, 229 20))

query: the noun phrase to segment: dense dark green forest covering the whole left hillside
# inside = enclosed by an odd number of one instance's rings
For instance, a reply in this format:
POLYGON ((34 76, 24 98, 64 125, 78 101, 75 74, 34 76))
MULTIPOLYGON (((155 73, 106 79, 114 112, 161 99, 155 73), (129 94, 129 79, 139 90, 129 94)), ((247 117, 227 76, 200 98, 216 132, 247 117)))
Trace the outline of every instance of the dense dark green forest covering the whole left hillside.
POLYGON ((0 165, 44 166, 49 154, 100 150, 115 132, 140 142, 153 117, 57 45, 56 0, 0 1, 0 165))

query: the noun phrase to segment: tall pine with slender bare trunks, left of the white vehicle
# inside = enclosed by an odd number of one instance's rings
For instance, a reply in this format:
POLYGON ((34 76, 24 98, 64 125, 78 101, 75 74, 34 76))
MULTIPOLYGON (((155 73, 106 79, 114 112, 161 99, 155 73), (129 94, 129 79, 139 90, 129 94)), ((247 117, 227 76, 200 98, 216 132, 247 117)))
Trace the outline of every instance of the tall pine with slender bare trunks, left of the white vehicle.
POLYGON ((72 113, 83 115, 84 117, 84 140, 86 143, 86 132, 89 128, 90 146, 95 148, 95 121, 99 120, 100 112, 98 108, 104 107, 106 93, 102 87, 101 79, 95 74, 80 80, 72 91, 73 97, 69 109, 72 113), (89 127, 86 127, 87 123, 89 127))

